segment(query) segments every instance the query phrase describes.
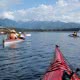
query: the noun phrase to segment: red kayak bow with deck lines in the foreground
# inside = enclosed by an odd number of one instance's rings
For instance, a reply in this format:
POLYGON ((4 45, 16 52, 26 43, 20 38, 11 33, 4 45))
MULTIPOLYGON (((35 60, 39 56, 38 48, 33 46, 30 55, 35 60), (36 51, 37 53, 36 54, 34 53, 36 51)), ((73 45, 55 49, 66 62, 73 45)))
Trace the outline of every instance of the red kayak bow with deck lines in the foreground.
POLYGON ((68 75, 73 72, 72 69, 68 66, 66 59, 63 57, 62 52, 58 46, 56 46, 54 61, 49 66, 42 80, 80 80, 76 73, 74 73, 70 79, 63 79, 62 77, 64 77, 64 71, 66 71, 68 75))

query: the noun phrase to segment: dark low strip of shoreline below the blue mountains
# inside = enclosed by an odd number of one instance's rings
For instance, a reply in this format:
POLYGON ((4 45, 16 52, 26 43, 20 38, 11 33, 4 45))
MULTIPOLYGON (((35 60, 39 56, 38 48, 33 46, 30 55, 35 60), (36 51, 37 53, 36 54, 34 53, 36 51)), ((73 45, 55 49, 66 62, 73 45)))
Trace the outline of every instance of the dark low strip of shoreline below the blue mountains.
POLYGON ((25 29, 25 28, 0 28, 0 32, 9 32, 11 29, 15 29, 17 32, 53 32, 53 31, 79 31, 80 28, 68 28, 68 29, 25 29))

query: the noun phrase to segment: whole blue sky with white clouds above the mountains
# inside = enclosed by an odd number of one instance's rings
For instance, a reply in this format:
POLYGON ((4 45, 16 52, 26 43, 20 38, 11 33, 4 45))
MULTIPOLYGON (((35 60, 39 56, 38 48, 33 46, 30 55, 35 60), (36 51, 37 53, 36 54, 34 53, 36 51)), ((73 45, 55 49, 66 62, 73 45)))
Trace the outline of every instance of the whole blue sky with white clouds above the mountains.
POLYGON ((0 0, 0 18, 80 23, 80 0, 0 0))

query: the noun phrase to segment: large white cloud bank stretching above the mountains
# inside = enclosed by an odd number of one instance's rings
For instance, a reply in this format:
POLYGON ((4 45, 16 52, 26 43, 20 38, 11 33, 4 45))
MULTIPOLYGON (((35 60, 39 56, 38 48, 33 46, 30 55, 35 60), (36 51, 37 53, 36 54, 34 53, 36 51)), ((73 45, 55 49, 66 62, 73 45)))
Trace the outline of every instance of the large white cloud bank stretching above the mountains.
POLYGON ((38 7, 8 11, 2 14, 3 18, 14 19, 16 21, 80 22, 80 1, 57 0, 55 5, 41 4, 38 7))

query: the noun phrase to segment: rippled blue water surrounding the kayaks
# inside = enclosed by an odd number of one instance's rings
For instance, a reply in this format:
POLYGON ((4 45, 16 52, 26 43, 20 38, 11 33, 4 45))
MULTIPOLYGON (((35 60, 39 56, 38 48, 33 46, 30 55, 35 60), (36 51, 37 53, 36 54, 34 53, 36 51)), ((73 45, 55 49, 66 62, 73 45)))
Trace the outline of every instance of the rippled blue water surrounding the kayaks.
MULTIPOLYGON (((80 38, 68 32, 31 32, 16 48, 2 48, 0 36, 0 80, 39 80, 60 46, 71 67, 80 67, 80 38)), ((79 33, 80 35, 80 33, 79 33)))

